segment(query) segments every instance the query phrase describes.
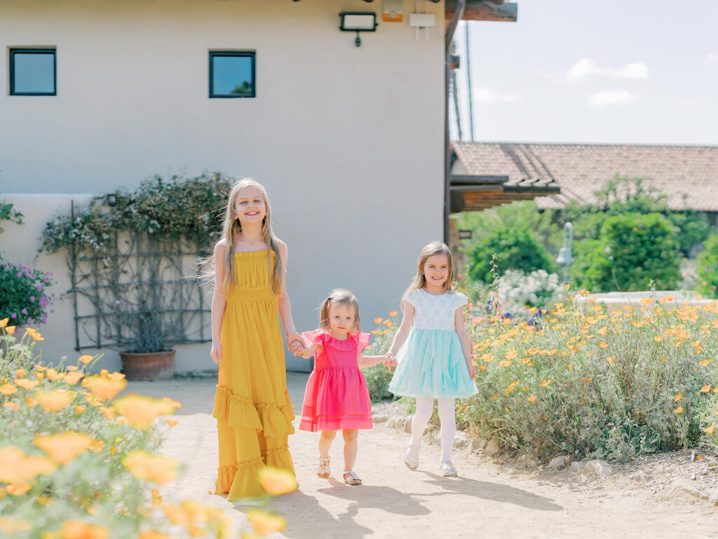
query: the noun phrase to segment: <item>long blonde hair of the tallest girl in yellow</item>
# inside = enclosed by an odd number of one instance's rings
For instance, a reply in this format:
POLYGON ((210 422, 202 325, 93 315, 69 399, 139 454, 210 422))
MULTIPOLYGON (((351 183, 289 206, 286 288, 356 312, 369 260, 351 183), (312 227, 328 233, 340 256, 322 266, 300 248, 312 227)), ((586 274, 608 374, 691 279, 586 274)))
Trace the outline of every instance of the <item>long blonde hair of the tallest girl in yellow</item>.
POLYGON ((242 233, 242 225, 239 222, 238 217, 235 214, 234 206, 237 202, 239 192, 245 187, 256 187, 262 195, 264 200, 264 206, 266 207, 266 215, 262 220, 261 228, 261 239, 269 245, 269 251, 267 252, 267 258, 269 260, 269 283, 272 294, 275 296, 281 296, 282 289, 284 288, 284 263, 279 256, 279 240, 276 238, 271 230, 271 206, 269 205, 269 198, 267 198, 266 189, 264 186, 256 182, 251 178, 243 178, 239 180, 230 189, 229 197, 227 200, 227 209, 225 211, 224 222, 222 225, 222 237, 221 240, 225 240, 225 252, 224 252, 224 267, 225 275, 224 282, 222 283, 222 290, 225 297, 228 297, 233 286, 236 286, 237 279, 234 275, 234 245, 238 238, 238 235, 242 233), (274 252, 274 270, 271 266, 271 253, 274 252))

